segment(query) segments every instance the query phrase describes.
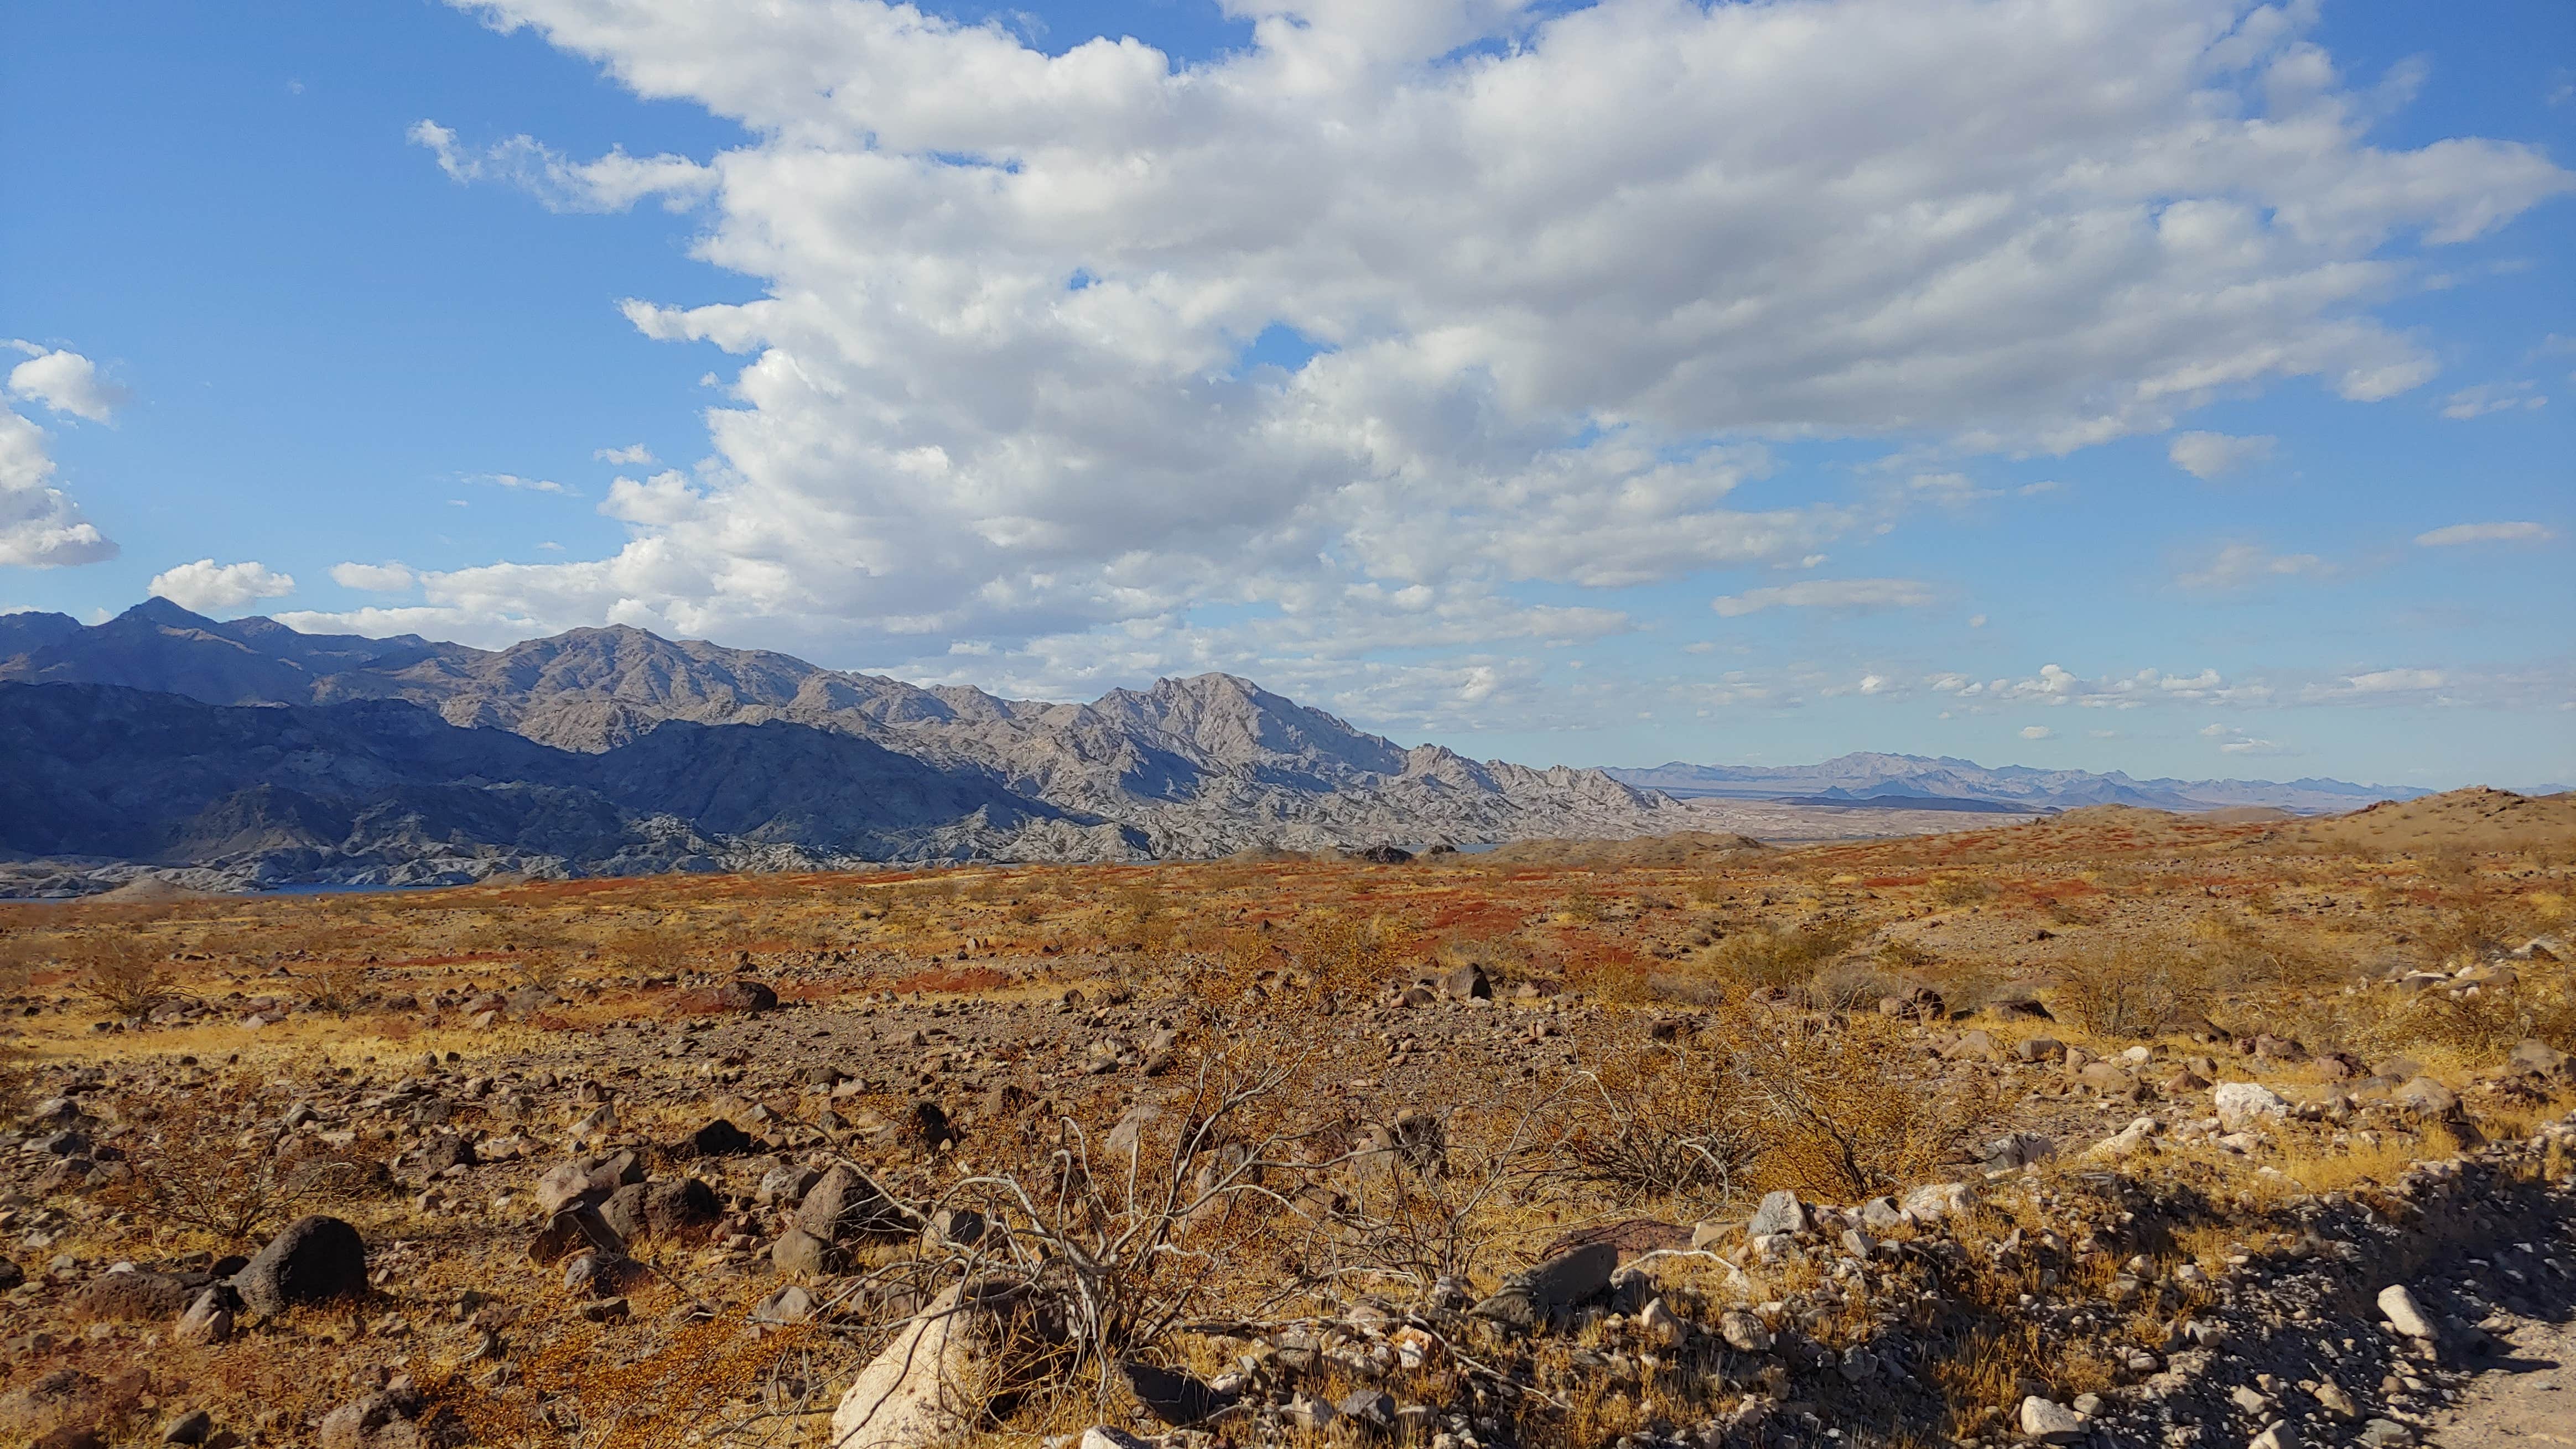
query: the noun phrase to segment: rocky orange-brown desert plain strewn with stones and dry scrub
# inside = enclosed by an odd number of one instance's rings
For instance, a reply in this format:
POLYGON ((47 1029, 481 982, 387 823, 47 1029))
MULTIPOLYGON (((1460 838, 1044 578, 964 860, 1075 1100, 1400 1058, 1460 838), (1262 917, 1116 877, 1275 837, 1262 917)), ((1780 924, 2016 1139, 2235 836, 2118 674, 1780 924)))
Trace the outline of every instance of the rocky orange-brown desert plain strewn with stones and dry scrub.
POLYGON ((21 909, 0 1439, 2545 1426, 2568 857, 2159 821, 21 909))

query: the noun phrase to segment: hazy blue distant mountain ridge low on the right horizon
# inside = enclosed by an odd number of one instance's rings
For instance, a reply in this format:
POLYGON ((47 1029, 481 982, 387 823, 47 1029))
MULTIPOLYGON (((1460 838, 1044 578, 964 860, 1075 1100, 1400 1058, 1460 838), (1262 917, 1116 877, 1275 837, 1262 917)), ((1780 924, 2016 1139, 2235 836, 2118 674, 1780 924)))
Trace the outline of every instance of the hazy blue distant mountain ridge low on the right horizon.
POLYGON ((1607 770, 1615 780, 1667 795, 1721 800, 1795 800, 1844 806, 2025 808, 2143 806, 2151 811, 2226 811, 2272 806, 2293 813, 2357 811, 2372 800, 2414 800, 2432 790, 2352 785, 2349 780, 2133 780, 2112 770, 1986 767, 1924 754, 1839 754, 1821 764, 1656 764, 1607 770))

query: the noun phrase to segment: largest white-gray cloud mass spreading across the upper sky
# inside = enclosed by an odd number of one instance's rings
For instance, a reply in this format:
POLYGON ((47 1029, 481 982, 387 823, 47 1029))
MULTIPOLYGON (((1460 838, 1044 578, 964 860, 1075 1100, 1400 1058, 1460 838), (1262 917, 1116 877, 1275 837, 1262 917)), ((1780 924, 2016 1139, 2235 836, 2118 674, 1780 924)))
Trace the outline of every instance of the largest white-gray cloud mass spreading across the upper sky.
POLYGON ((412 131, 554 208, 698 206, 757 281, 626 304, 742 363, 711 466, 603 504, 618 553, 430 587, 546 628, 1105 661, 1193 605, 1329 638, 1414 587, 1528 628, 1517 584, 1855 528, 1731 507, 1754 440, 2066 453, 2280 378, 2419 386, 2372 314, 2409 252, 2576 180, 2372 144, 2308 10, 2236 0, 1275 0, 1190 67, 876 0, 459 3, 750 134, 412 131), (1247 365, 1273 329, 1314 355, 1247 365))

